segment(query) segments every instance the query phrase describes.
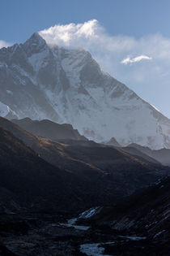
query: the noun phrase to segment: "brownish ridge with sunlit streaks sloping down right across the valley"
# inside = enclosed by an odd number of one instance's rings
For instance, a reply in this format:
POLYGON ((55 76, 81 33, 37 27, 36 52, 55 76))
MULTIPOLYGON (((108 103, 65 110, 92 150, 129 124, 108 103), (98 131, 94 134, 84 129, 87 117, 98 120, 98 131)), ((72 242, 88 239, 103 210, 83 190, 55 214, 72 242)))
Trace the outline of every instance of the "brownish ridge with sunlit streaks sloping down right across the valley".
MULTIPOLYGON (((133 193, 166 175, 160 165, 136 158, 122 150, 98 144, 77 145, 36 137, 7 119, 0 118, 0 126, 23 140, 40 158, 64 170, 68 182, 88 199, 88 205, 108 203, 133 193), (72 179, 72 180, 71 180, 72 179), (71 181, 69 181, 71 180, 71 181)), ((70 185, 69 185, 70 187, 70 185)))

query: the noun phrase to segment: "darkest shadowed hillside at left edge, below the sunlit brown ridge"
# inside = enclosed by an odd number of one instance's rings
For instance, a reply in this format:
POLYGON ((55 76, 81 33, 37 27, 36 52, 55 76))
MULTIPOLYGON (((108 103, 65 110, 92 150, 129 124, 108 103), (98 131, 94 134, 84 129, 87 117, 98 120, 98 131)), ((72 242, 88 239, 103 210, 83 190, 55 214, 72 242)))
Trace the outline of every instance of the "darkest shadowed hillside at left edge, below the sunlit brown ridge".
POLYGON ((0 186, 19 202, 35 202, 49 193, 63 191, 60 170, 46 163, 23 141, 0 128, 0 186))

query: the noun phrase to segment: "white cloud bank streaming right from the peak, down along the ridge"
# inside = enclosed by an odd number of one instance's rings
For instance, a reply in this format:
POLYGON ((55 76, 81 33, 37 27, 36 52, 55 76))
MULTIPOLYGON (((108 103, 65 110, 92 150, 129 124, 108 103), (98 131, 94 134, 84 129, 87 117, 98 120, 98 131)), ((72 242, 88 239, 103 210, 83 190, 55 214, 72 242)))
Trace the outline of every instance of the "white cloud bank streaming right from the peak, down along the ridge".
POLYGON ((170 109, 165 104, 169 102, 170 94, 170 38, 159 33, 141 38, 110 36, 97 20, 84 24, 57 24, 40 31, 40 35, 51 45, 90 51, 105 72, 130 86, 160 110, 167 112, 170 109), (144 61, 149 59, 152 61, 144 61), (122 65, 122 62, 140 62, 140 65, 122 65), (165 93, 163 88, 167 89, 165 93))

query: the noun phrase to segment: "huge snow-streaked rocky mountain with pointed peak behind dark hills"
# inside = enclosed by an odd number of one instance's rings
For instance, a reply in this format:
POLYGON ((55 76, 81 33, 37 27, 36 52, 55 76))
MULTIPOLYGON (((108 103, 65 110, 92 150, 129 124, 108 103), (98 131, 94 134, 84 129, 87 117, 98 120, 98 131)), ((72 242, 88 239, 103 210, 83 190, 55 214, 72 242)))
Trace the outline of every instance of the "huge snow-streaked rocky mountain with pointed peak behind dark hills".
POLYGON ((170 148, 169 119, 101 71, 87 51, 49 46, 39 33, 0 50, 0 90, 0 102, 19 118, 72 124, 96 141, 170 148))

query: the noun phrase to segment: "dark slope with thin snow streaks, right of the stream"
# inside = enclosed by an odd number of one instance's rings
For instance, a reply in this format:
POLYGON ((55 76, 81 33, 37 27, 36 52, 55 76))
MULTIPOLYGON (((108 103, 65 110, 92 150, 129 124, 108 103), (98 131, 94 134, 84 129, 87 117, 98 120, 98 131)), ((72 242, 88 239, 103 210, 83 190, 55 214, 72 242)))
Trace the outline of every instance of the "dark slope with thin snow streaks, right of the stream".
POLYGON ((104 207, 85 223, 98 233, 116 235, 113 244, 104 245, 105 254, 169 255, 170 178, 134 193, 117 206, 104 207))

